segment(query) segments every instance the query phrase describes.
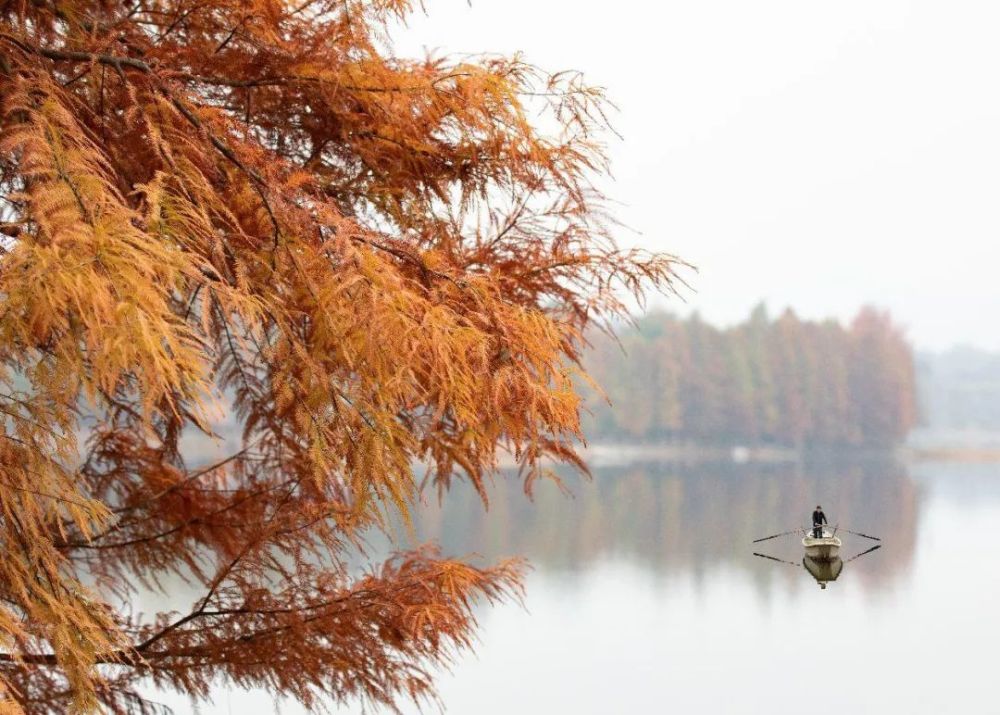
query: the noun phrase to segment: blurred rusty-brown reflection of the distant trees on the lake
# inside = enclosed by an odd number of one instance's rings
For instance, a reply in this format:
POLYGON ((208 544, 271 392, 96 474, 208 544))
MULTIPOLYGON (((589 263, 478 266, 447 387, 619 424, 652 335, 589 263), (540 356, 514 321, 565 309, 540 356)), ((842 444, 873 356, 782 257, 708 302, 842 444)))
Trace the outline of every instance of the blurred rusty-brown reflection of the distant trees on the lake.
MULTIPOLYGON (((499 481, 484 514, 472 489, 458 485, 438 504, 417 510, 417 541, 436 541, 449 555, 478 553, 492 561, 520 554, 546 571, 586 571, 600 560, 627 560, 663 577, 720 566, 750 572, 762 586, 780 576, 748 558, 762 529, 794 528, 812 506, 827 506, 831 523, 878 533, 892 558, 852 568, 869 588, 885 585, 909 564, 920 490, 891 460, 782 465, 632 464, 595 470, 592 481, 563 475, 572 496, 553 484, 528 501, 520 485, 499 481)), ((766 531, 764 533, 767 533, 766 531)), ((853 537, 845 537, 853 539, 853 537)), ((788 543, 779 543, 779 542, 788 543)), ((860 548, 865 548, 863 539, 860 548)), ((845 541, 849 553, 858 551, 845 541)), ((769 553, 799 564, 797 539, 769 553)))

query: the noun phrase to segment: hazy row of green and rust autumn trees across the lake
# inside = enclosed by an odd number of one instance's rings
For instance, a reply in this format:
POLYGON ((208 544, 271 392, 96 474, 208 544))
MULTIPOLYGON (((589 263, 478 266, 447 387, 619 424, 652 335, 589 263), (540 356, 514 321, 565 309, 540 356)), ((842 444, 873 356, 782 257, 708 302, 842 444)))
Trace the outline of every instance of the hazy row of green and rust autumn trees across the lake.
POLYGON ((912 349, 872 308, 846 327, 763 306, 726 329, 658 313, 592 342, 611 404, 589 394, 591 441, 887 447, 917 418, 912 349))

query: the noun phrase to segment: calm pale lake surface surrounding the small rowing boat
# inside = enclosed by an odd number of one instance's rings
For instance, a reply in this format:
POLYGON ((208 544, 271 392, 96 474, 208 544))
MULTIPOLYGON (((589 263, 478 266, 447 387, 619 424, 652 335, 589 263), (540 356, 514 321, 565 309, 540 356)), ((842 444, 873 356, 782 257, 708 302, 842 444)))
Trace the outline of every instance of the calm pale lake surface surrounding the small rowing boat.
MULTIPOLYGON (((476 652, 440 676, 449 713, 1000 713, 1000 465, 632 464, 570 486, 532 504, 498 483, 486 516, 463 489, 422 510, 447 553, 534 567, 524 607, 484 608, 476 652), (753 556, 799 561, 796 538, 750 543, 817 502, 884 543, 826 590, 753 556)), ((845 535, 843 555, 871 545, 845 535)), ((222 691, 202 708, 273 711, 222 691)))

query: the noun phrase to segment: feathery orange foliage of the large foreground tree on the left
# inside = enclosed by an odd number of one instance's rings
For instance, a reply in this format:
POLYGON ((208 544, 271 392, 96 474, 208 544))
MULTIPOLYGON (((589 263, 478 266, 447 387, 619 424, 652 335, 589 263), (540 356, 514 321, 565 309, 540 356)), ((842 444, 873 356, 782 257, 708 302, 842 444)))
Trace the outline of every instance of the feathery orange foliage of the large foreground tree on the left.
POLYGON ((392 56, 410 5, 0 3, 0 708, 419 699, 519 588, 344 553, 413 464, 485 499, 502 452, 579 463, 581 332, 674 261, 610 238, 599 90, 392 56), (222 408, 241 444, 188 464, 222 408), (170 572, 189 612, 120 606, 170 572))

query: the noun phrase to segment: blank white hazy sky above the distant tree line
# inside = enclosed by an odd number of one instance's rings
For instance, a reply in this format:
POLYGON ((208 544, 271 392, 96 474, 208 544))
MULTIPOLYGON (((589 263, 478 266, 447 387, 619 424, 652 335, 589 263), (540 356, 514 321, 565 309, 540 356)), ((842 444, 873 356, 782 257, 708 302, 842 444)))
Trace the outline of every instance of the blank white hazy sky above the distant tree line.
POLYGON ((401 54, 522 51, 607 87, 626 241, 695 263, 709 319, 874 303, 921 348, 1000 348, 1000 3, 426 7, 401 54))

